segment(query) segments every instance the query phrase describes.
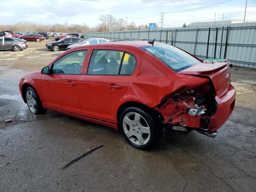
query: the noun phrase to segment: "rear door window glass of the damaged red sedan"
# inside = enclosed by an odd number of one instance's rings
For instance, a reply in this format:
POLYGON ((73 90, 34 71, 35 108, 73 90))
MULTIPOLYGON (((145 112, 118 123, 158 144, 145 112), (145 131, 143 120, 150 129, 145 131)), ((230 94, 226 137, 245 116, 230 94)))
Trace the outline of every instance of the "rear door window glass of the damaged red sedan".
POLYGON ((94 50, 87 74, 131 75, 136 59, 131 54, 117 50, 94 50))

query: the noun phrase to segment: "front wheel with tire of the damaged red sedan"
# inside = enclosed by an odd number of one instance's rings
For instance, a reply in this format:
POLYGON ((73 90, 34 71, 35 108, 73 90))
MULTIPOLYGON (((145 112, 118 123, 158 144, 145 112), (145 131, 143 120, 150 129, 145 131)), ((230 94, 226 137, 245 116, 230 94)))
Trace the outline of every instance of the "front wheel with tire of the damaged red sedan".
POLYGON ((26 101, 30 112, 34 114, 44 114, 45 109, 42 106, 42 102, 32 87, 26 89, 26 101))

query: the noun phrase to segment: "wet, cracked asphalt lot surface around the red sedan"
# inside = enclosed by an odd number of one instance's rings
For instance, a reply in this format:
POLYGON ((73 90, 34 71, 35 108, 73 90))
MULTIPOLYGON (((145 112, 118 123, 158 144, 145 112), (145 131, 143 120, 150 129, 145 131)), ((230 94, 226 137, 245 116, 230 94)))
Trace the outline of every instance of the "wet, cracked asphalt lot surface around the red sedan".
POLYGON ((142 151, 112 128, 51 111, 29 112, 18 83, 63 52, 47 51, 51 40, 0 52, 0 166, 13 160, 0 167, 0 191, 255 192, 256 69, 231 69, 236 106, 216 138, 165 130, 158 145, 142 151))

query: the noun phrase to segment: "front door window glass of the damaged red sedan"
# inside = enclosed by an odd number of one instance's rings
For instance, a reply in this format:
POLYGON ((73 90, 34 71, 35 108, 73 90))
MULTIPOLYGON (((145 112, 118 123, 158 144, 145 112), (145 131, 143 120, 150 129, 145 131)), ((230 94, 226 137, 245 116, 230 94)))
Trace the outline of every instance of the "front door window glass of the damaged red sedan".
POLYGON ((52 66, 52 74, 80 74, 87 50, 74 51, 66 54, 52 66))

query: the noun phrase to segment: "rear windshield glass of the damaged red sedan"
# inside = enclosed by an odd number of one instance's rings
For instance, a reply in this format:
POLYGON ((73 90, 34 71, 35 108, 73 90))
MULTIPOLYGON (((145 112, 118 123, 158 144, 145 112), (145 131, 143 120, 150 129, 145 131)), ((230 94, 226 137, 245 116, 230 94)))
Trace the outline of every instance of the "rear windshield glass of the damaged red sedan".
POLYGON ((175 72, 201 63, 190 54, 168 44, 149 45, 141 47, 141 49, 158 58, 175 72))

